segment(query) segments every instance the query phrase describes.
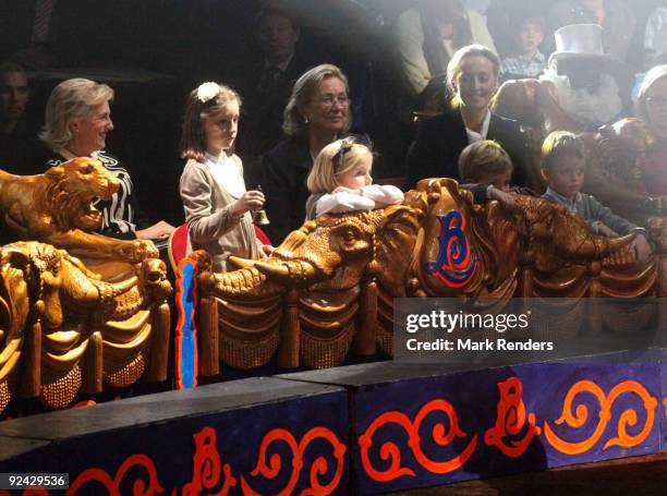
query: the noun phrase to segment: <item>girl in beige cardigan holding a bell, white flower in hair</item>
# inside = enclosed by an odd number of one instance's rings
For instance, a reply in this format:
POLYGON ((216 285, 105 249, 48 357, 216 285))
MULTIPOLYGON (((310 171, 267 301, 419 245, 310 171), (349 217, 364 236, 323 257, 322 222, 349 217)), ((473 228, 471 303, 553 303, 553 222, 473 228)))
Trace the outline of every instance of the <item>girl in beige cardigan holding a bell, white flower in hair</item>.
POLYGON ((187 159, 180 191, 193 249, 214 257, 217 270, 227 258, 260 258, 271 246, 255 235, 251 211, 262 208, 264 194, 246 191, 243 165, 233 145, 241 98, 231 88, 204 83, 187 97, 181 135, 181 157, 187 159))

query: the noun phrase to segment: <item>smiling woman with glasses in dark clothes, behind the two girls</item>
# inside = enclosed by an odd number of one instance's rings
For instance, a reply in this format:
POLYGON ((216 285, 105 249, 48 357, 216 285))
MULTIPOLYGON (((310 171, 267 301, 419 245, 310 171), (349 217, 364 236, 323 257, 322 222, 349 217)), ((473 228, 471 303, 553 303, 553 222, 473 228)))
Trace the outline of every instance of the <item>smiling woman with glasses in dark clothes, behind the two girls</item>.
POLYGON ((331 64, 317 65, 294 83, 282 123, 287 140, 262 162, 268 233, 275 245, 303 225, 314 157, 350 129, 349 93, 348 78, 331 64))

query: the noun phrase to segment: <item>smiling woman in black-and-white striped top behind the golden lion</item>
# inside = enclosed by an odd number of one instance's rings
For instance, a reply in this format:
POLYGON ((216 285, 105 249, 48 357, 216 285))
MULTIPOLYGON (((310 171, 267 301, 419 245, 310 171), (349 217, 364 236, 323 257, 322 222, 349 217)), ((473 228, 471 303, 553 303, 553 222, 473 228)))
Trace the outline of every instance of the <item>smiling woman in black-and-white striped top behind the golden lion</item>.
POLYGON ((95 206, 102 214, 100 233, 119 239, 160 239, 173 227, 160 220, 142 222, 134 184, 119 160, 105 152, 107 134, 113 130, 109 102, 113 89, 84 78, 66 80, 53 88, 46 107, 46 123, 39 137, 52 152, 47 167, 75 157, 95 158, 120 180, 120 190, 95 206), (140 228, 140 229, 137 229, 140 228))

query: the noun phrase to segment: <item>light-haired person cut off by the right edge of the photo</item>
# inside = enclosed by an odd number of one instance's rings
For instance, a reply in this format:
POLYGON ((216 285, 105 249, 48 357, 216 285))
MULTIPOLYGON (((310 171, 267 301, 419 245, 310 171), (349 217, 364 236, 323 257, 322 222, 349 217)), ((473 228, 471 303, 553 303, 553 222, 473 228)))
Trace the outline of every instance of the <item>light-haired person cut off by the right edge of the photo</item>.
POLYGON ((643 159, 646 192, 667 195, 667 65, 656 65, 646 73, 634 113, 656 138, 643 159))

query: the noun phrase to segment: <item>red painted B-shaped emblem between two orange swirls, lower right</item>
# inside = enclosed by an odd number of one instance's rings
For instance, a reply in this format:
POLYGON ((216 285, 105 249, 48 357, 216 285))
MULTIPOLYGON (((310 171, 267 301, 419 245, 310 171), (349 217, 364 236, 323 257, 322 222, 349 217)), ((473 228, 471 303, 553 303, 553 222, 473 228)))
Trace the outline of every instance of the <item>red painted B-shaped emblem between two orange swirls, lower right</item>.
POLYGON ((539 436, 542 430, 536 426, 535 414, 527 415, 527 430, 522 439, 508 439, 509 436, 518 436, 526 426, 525 403, 521 396, 523 385, 518 377, 498 383, 500 399, 496 407, 496 425, 486 431, 484 441, 488 446, 496 446, 506 456, 519 458, 522 456, 535 436, 539 436))

